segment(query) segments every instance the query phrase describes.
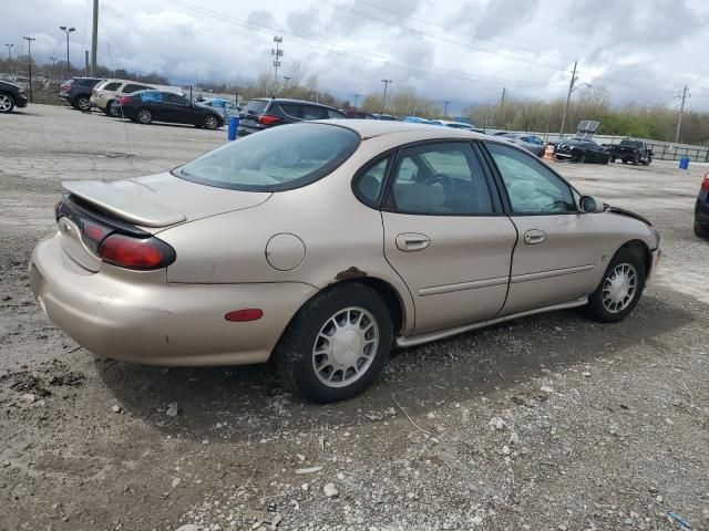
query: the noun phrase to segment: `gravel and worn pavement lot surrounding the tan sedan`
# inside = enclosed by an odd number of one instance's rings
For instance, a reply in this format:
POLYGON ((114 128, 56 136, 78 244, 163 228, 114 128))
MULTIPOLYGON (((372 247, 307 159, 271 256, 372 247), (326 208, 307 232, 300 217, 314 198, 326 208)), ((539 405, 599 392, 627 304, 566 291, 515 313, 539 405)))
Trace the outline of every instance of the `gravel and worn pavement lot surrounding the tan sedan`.
POLYGON ((0 530, 709 529, 709 241, 691 230, 709 166, 553 163, 662 237, 628 320, 558 312, 398 352, 363 395, 314 406, 269 366, 95 360, 29 289, 62 180, 224 142, 69 107, 2 116, 0 530))

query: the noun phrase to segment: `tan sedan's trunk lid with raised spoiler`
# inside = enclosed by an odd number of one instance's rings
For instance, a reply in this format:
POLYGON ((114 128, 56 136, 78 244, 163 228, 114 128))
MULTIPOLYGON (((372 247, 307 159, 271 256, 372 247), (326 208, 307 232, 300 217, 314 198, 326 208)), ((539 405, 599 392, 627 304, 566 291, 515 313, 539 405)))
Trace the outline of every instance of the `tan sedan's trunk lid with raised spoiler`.
POLYGON ((210 187, 169 173, 62 186, 65 192, 55 212, 62 248, 91 271, 99 270, 97 249, 112 232, 148 238, 175 225, 258 206, 273 195, 210 187))

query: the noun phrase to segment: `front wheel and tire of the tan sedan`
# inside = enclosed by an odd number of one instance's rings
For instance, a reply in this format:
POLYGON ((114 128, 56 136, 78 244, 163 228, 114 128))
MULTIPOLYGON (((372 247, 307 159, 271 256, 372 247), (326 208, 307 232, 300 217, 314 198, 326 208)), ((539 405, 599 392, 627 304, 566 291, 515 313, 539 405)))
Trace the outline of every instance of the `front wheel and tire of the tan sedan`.
POLYGON ((620 248, 588 298, 585 313, 599 323, 623 321, 635 309, 645 289, 645 262, 638 251, 620 248))

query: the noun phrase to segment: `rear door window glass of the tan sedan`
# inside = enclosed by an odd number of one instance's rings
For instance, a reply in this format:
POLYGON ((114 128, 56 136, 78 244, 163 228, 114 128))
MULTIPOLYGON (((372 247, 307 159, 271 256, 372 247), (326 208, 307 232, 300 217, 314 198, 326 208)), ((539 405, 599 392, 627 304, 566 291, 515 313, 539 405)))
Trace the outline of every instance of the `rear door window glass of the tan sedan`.
POLYGON ((493 212, 487 181, 470 144, 438 143, 404 148, 393 176, 392 197, 399 211, 493 212))

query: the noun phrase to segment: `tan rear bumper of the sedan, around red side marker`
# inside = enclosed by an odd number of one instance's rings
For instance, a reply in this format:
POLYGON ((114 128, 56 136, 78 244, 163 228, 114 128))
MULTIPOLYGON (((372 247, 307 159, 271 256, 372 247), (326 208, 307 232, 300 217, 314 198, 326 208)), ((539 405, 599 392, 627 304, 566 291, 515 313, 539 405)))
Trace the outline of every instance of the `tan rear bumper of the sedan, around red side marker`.
POLYGON ((150 365, 232 365, 268 360, 292 315, 317 289, 302 283, 176 284, 165 271, 136 273, 103 264, 91 272, 42 240, 30 285, 47 315, 96 355, 150 365), (234 310, 264 316, 228 322, 234 310))

